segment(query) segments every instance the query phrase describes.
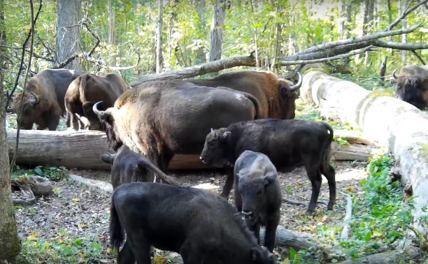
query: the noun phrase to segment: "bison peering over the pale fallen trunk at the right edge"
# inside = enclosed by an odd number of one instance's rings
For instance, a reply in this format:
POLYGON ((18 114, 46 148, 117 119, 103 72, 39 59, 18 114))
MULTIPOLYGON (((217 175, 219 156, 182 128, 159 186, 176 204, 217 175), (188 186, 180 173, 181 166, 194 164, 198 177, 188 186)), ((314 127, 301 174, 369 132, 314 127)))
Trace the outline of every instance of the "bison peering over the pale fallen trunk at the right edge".
POLYGON ((428 66, 408 65, 392 74, 397 79, 395 94, 401 100, 423 110, 428 104, 428 66))

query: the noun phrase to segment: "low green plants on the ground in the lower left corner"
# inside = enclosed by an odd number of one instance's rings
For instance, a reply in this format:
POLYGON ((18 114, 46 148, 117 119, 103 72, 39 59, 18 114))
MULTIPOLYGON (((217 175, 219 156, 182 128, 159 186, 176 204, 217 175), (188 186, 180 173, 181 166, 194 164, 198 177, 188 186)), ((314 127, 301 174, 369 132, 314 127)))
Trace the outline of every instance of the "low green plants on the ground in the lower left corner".
POLYGON ((57 235, 49 240, 31 235, 22 243, 21 256, 29 263, 87 263, 101 257, 103 247, 97 237, 66 237, 65 230, 57 235))

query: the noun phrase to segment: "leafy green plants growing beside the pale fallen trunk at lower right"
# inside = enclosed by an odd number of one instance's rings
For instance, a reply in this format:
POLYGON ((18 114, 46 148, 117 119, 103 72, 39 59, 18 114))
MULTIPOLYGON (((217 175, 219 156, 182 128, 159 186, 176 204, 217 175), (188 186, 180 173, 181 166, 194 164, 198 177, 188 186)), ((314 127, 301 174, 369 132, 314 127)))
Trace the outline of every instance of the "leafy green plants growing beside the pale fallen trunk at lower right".
POLYGON ((354 198, 352 240, 341 242, 352 258, 376 252, 382 242, 392 244, 403 239, 411 223, 413 205, 411 200, 403 201, 400 183, 391 182, 392 166, 390 154, 370 159, 369 177, 360 182, 364 193, 354 198))

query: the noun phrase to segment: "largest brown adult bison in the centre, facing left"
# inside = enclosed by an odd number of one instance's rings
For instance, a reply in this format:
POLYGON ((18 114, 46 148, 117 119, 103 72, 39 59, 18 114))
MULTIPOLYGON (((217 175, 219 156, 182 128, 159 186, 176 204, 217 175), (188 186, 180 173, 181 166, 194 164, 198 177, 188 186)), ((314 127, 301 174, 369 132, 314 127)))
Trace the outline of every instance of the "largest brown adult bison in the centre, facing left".
POLYGON ((251 94, 202 87, 183 80, 146 82, 122 94, 113 108, 94 113, 105 125, 109 146, 122 144, 166 172, 174 154, 199 154, 206 134, 231 123, 259 118, 251 94))

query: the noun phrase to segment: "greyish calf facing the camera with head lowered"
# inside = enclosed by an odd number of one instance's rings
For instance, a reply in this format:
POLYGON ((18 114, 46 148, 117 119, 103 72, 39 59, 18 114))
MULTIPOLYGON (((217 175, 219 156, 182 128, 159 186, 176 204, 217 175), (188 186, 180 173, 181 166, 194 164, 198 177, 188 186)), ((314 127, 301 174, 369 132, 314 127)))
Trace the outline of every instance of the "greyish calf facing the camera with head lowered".
POLYGON ((235 205, 260 242, 260 226, 266 226, 264 245, 273 251, 280 220, 281 189, 278 173, 262 153, 245 150, 236 160, 235 205))

